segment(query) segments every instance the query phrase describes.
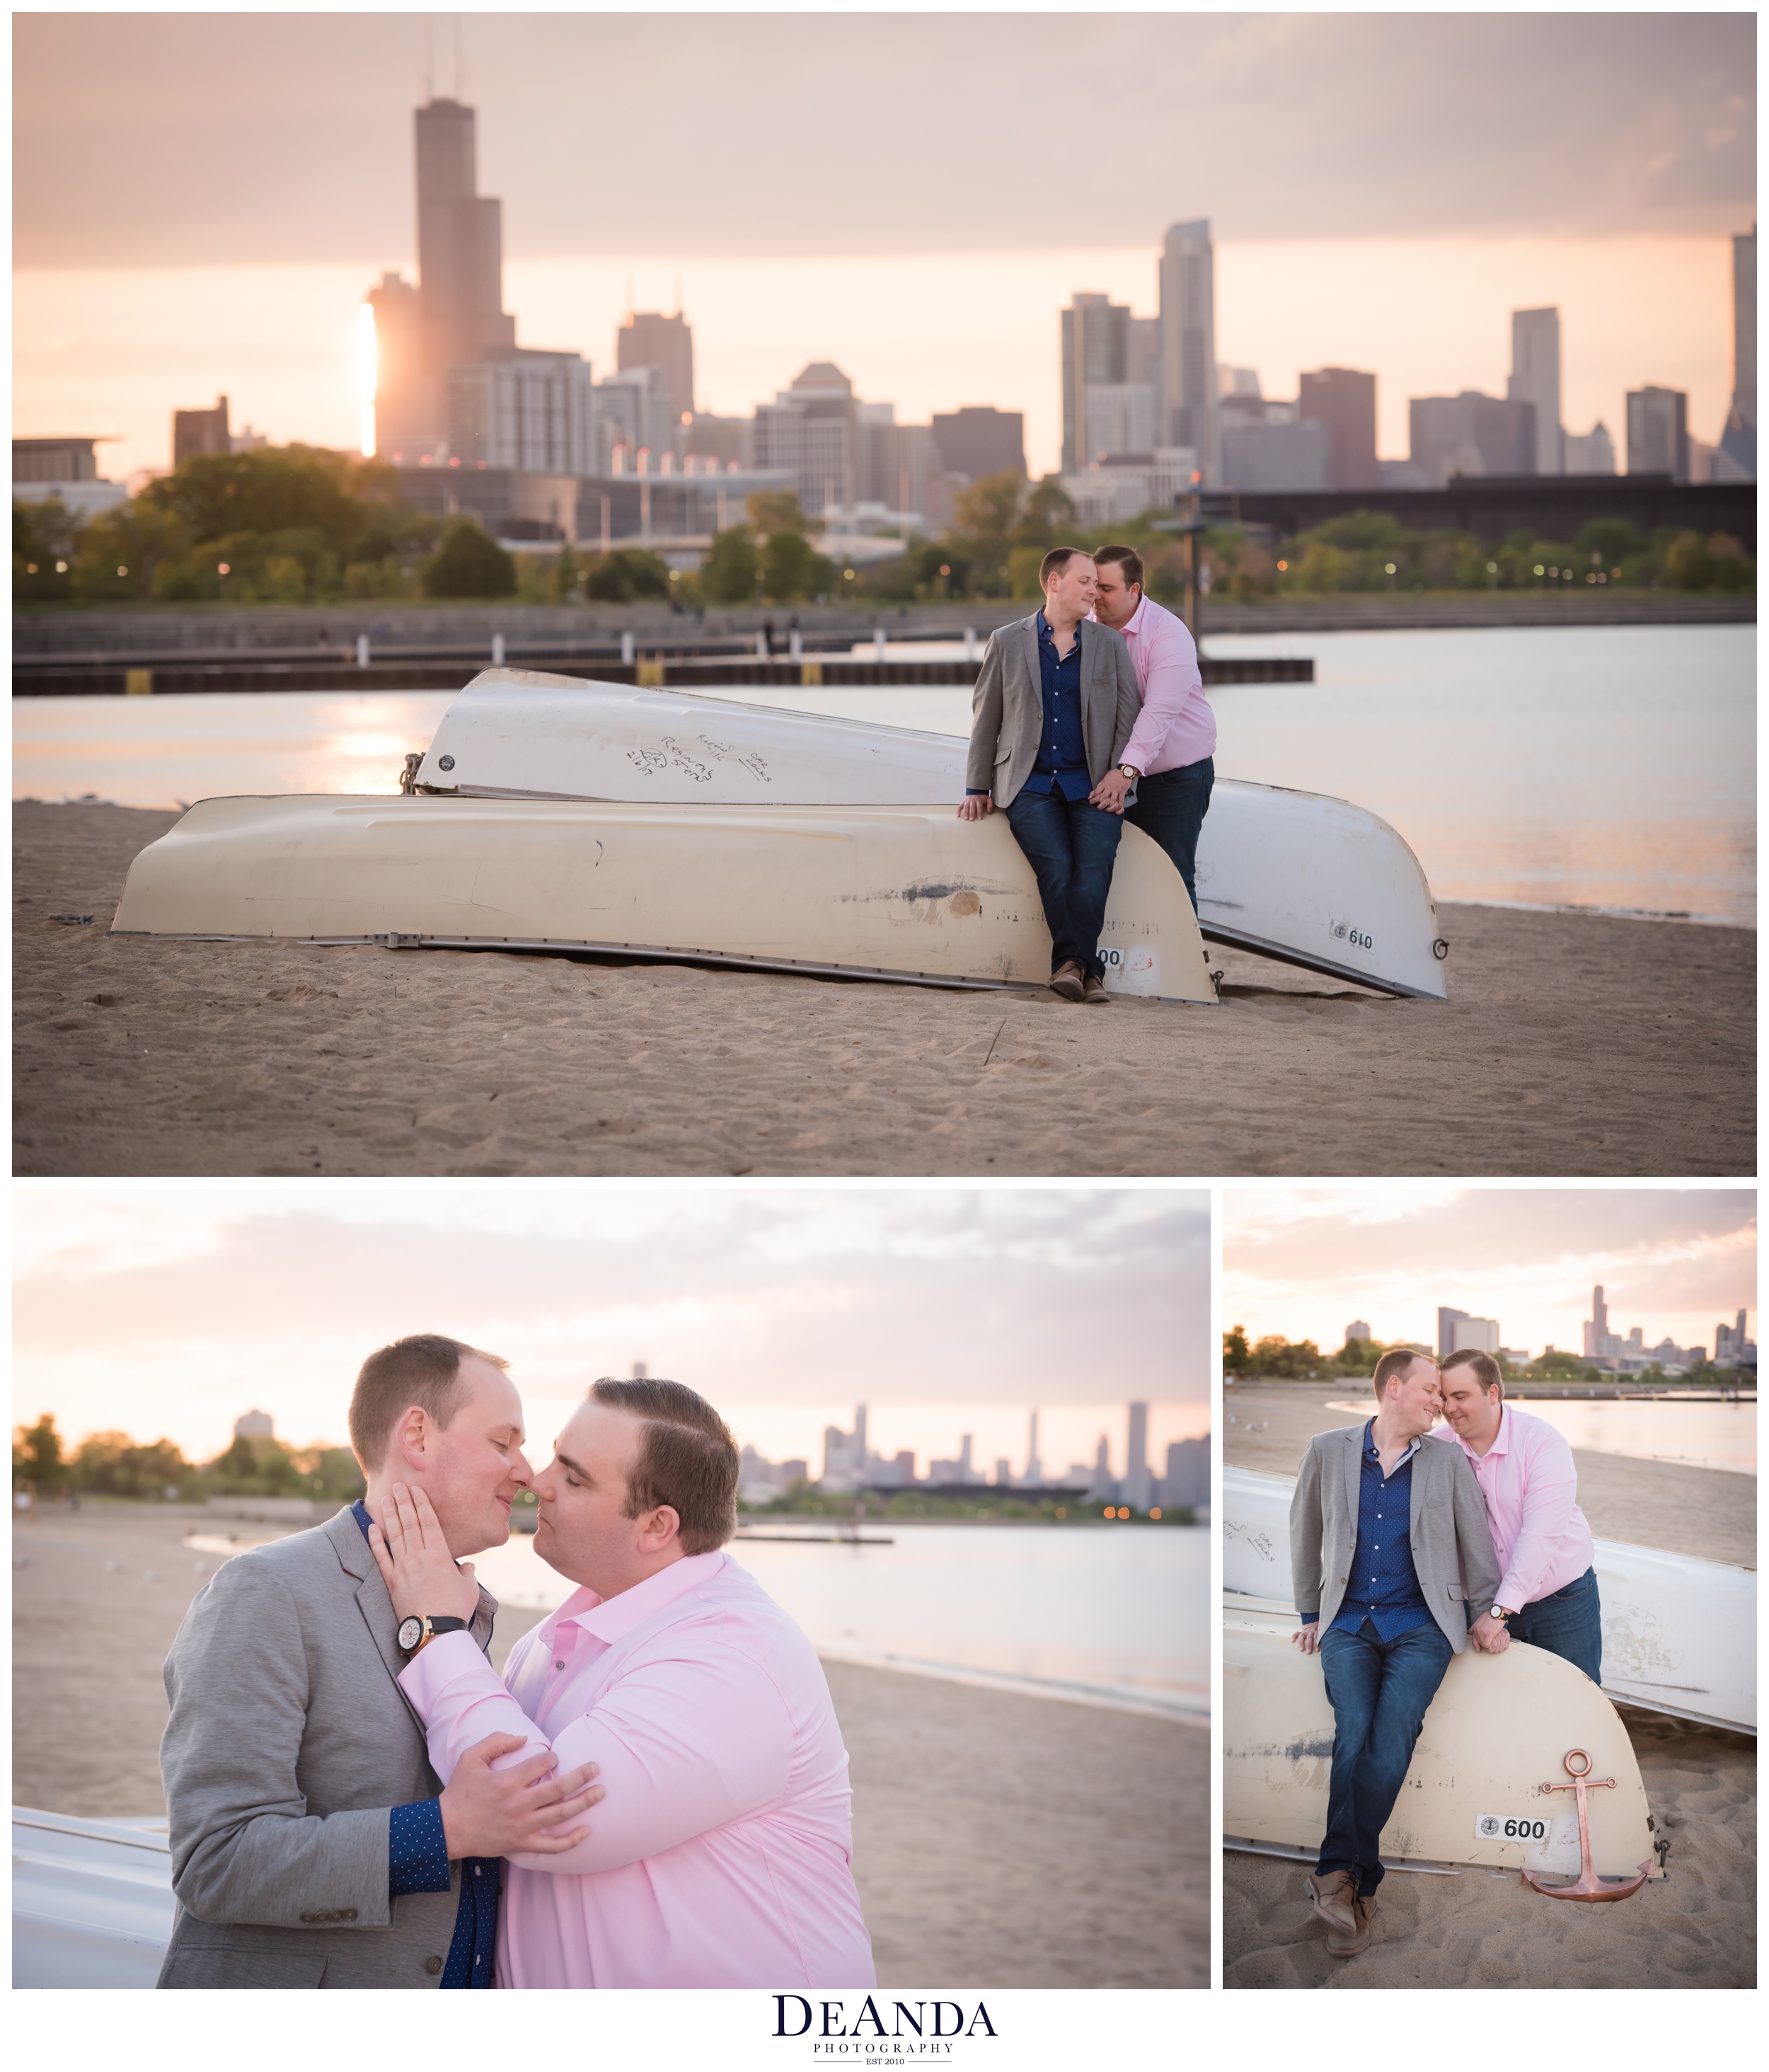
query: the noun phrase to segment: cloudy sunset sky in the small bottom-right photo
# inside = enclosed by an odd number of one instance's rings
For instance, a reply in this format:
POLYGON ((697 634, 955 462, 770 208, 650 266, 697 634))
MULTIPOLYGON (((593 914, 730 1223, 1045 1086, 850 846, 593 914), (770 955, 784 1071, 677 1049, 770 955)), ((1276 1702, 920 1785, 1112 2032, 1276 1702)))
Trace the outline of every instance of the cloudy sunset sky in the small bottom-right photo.
POLYGON ((1713 1351, 1750 1312, 1752 1189, 1309 1187, 1224 1191, 1222 1322, 1338 1349, 1359 1318, 1378 1339, 1438 1343, 1438 1305, 1500 1320, 1504 1345, 1581 1351, 1601 1283, 1610 1328, 1641 1324, 1713 1351))

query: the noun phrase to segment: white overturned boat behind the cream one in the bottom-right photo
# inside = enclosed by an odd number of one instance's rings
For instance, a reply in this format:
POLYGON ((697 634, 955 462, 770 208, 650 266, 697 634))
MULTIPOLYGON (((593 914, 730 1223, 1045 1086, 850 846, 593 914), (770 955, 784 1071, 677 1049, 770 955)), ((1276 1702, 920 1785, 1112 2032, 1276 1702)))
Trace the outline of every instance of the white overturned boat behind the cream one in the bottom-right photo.
MULTIPOLYGON (((1291 1602, 1295 1488, 1284 1475, 1222 1469, 1224 1589, 1291 1602)), ((1610 1697, 1755 1734, 1757 1577, 1730 1562, 1620 1539, 1597 1539, 1593 1566, 1610 1697)))

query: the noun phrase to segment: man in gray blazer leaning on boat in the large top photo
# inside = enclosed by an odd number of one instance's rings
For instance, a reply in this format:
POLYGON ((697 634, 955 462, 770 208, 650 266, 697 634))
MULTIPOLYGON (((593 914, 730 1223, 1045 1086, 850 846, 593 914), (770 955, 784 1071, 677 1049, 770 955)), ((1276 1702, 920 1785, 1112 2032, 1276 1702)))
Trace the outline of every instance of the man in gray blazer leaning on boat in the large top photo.
MULTIPOLYGON (((1141 717, 1123 636, 1090 620, 1098 580, 1079 547, 1038 572, 1044 609, 990 634, 972 696, 961 821, 996 806, 1038 876, 1050 928, 1050 990, 1104 1005, 1100 928, 1123 833, 1123 792, 1106 779, 1141 717)), ((1135 781, 1135 771, 1125 769, 1135 781)))

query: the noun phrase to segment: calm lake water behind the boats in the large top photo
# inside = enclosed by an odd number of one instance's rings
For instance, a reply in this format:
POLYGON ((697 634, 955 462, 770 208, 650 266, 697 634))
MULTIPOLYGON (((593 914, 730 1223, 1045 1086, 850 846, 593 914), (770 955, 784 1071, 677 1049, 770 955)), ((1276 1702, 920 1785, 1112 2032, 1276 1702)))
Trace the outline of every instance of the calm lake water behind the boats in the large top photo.
MULTIPOLYGON (((1315 657, 1313 684, 1212 692, 1218 773, 1369 806, 1400 829, 1440 899, 1755 926, 1752 626, 1208 634, 1206 646, 1224 659, 1315 657)), ((901 653, 932 661, 963 646, 901 653)), ((711 694, 969 729, 963 688, 711 694)), ((429 744, 447 702, 17 698, 12 796, 174 806, 228 792, 396 792, 406 750, 429 744)))

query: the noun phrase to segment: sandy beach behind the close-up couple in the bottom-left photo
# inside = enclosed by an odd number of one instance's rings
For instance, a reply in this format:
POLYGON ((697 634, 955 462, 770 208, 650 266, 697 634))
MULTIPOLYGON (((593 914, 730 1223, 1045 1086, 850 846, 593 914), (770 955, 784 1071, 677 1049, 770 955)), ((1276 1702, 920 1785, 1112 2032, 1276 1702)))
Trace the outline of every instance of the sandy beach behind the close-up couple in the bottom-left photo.
MULTIPOLYGON (((197 1560, 215 1564, 182 1546, 193 1529, 271 1531, 95 1502, 15 1529, 15 1805, 164 1815, 160 1666, 203 1587, 197 1560)), ((501 1612, 493 1662, 541 1618, 501 1612)), ((1208 1734, 841 1662, 829 1687, 880 1985, 1210 1983, 1208 1734)))

